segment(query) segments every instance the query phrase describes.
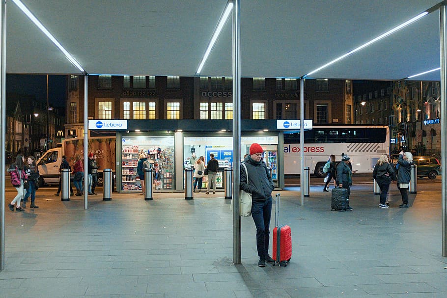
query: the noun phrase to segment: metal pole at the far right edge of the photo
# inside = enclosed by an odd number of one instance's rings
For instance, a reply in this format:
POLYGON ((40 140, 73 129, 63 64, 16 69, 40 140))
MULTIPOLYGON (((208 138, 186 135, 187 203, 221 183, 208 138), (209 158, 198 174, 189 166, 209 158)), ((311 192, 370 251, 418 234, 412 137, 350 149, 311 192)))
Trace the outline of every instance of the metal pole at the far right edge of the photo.
MULTIPOLYGON (((440 54, 441 54, 441 159, 446 158, 446 131, 447 131, 447 107, 446 107, 446 94, 447 94, 447 9, 446 5, 442 5, 439 8, 440 12, 440 54)), ((442 249, 443 256, 447 257, 447 167, 443 166, 442 169, 442 249)))

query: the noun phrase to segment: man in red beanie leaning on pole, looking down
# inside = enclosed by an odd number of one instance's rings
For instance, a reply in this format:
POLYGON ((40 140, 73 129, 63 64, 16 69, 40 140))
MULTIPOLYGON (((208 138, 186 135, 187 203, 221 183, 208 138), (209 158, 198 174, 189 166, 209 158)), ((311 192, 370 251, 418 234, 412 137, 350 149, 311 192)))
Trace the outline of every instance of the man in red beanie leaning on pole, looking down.
POLYGON ((251 217, 256 225, 256 248, 259 256, 259 267, 265 267, 265 262, 273 263, 269 256, 270 217, 272 215, 272 190, 275 189, 267 165, 261 161, 263 150, 261 145, 253 143, 250 155, 242 162, 240 188, 251 193, 251 217), (247 179, 248 178, 248 179, 247 179))

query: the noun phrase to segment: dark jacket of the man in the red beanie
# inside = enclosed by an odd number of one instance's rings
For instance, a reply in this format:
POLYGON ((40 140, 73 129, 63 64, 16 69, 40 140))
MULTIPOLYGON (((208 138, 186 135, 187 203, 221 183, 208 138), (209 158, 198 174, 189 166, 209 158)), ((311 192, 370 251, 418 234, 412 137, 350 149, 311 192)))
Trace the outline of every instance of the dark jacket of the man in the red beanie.
POLYGON ((240 189, 251 193, 253 201, 265 201, 272 197, 272 190, 275 189, 275 186, 265 163, 255 163, 251 160, 250 155, 243 163, 249 173, 249 182, 247 183, 247 174, 241 164, 240 189))

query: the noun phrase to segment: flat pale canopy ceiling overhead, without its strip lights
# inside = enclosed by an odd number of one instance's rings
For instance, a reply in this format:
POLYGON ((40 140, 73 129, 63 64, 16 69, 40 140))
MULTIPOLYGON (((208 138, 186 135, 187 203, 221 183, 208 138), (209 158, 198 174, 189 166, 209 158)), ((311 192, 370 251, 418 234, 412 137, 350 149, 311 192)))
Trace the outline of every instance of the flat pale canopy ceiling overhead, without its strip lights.
MULTIPOLYGON (((88 74, 194 76, 226 0, 22 0, 88 74)), ((243 77, 302 77, 439 0, 243 0, 243 77)), ((7 1, 6 72, 76 74, 7 1)), ((315 74, 398 80, 440 65, 439 12, 315 74)), ((231 21, 200 75, 231 76, 231 21)), ((440 80, 432 72, 415 80, 440 80)))

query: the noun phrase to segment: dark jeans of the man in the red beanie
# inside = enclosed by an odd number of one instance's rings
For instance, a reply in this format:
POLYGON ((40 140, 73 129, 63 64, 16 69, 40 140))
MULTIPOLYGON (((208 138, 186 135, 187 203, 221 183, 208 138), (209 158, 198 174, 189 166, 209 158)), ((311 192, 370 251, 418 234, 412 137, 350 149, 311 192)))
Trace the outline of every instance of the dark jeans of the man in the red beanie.
POLYGON ((272 197, 263 202, 253 202, 251 217, 256 225, 256 248, 258 256, 264 258, 269 252, 270 217, 272 217, 272 197))

